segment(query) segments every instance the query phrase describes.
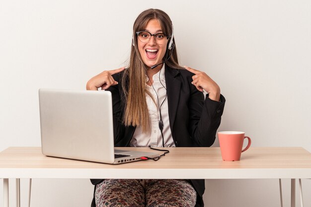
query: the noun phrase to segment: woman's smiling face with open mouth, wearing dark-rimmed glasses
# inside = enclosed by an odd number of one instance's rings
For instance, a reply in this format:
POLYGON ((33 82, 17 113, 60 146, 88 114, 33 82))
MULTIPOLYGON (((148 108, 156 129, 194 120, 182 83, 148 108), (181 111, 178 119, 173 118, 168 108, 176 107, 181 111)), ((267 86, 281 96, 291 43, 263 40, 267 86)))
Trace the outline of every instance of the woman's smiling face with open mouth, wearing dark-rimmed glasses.
MULTIPOLYGON (((161 26, 157 19, 149 20, 145 30, 149 31, 151 34, 162 33, 161 26)), ((161 45, 158 45, 156 43, 155 36, 151 36, 149 42, 145 43, 137 39, 139 53, 141 54, 144 63, 148 67, 152 67, 154 65, 162 63, 166 51, 167 42, 168 40, 166 39, 166 37, 165 43, 161 45)))

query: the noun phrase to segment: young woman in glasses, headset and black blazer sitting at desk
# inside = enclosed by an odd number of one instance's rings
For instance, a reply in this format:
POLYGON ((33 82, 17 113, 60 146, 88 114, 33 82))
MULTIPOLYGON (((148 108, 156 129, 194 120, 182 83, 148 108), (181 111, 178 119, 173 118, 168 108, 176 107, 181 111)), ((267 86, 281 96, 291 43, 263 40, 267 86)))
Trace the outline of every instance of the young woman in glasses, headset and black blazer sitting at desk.
MULTIPOLYGON (((159 9, 133 26, 129 66, 103 71, 86 84, 109 90, 115 146, 211 146, 225 98, 204 72, 178 65, 173 25, 159 9), (204 97, 203 90, 208 94, 204 97)), ((92 207, 203 207, 204 180, 98 180, 92 207)))

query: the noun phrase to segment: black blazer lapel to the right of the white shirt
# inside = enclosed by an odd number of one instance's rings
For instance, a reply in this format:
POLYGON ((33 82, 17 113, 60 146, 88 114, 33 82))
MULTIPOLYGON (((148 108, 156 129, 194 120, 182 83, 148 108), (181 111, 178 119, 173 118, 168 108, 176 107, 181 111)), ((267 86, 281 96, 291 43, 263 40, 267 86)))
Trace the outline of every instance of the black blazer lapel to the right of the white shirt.
POLYGON ((176 111, 180 94, 181 81, 177 78, 178 75, 179 75, 178 69, 171 69, 167 65, 165 65, 165 83, 166 83, 169 126, 171 132, 173 132, 173 126, 176 117, 176 111))

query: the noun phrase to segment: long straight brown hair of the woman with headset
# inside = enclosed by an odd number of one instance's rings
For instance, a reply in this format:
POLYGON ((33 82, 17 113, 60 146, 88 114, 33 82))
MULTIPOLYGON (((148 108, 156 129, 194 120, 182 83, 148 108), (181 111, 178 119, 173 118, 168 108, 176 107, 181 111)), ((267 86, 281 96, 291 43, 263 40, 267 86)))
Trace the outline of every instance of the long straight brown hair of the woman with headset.
MULTIPOLYGON (((147 9, 139 14, 133 25, 134 45, 132 45, 131 48, 129 67, 124 71, 122 77, 122 88, 126 98, 123 122, 126 126, 141 126, 144 133, 150 131, 146 93, 151 97, 152 95, 146 89, 147 66, 144 64, 137 47, 136 32, 145 30, 151 19, 157 19, 162 32, 171 36, 172 21, 164 11, 159 9, 147 9)), ((173 43, 175 44, 174 38, 173 43)), ((170 55, 170 53, 171 57, 165 64, 170 68, 182 69, 182 67, 178 65, 176 46, 171 51, 166 49, 166 56, 170 55)))

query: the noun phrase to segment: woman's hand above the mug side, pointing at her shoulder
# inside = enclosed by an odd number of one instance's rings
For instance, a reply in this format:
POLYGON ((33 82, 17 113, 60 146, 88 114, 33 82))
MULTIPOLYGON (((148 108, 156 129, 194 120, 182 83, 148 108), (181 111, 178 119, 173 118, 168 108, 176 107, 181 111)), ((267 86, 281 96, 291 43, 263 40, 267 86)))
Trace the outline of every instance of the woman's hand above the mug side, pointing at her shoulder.
POLYGON ((204 89, 209 93, 210 99, 220 101, 220 87, 212 78, 200 70, 192 69, 187 66, 184 66, 184 68, 195 74, 192 76, 192 84, 195 85, 199 91, 203 92, 204 89))

